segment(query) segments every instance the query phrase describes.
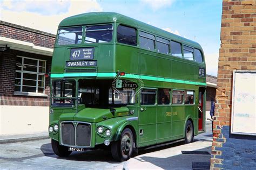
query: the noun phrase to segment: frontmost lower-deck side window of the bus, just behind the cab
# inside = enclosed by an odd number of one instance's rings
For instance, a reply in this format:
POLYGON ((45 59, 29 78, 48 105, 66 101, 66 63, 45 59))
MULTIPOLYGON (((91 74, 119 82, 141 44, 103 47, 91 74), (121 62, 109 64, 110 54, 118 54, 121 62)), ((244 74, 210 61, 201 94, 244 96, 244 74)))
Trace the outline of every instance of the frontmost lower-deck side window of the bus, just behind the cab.
POLYGON ((140 104, 142 105, 154 105, 156 104, 156 90, 154 89, 143 89, 142 98, 140 104))

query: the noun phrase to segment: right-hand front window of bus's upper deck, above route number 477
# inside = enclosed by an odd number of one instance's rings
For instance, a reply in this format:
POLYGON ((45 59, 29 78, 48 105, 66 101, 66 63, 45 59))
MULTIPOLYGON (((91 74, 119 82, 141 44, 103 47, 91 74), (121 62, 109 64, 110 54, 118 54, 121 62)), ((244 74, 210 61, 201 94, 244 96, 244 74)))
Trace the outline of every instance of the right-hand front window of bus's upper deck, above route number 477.
POLYGON ((110 42, 112 40, 113 25, 86 26, 85 43, 110 42))

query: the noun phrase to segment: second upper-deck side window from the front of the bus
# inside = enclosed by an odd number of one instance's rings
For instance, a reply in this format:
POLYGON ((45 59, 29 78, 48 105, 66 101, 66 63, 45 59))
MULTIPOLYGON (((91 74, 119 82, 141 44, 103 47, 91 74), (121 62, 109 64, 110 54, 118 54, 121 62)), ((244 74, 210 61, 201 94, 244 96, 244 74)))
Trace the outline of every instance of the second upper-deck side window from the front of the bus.
POLYGON ((154 36, 145 32, 139 32, 139 46, 154 51, 154 36))

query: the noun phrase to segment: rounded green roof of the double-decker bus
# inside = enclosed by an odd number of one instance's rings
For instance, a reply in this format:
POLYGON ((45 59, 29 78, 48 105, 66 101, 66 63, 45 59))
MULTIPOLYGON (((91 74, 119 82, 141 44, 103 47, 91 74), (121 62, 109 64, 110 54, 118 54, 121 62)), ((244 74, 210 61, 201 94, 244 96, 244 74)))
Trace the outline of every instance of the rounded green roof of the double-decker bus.
MULTIPOLYGON (((90 12, 90 13, 82 13, 80 15, 71 16, 65 18, 60 22, 59 27, 66 26, 76 26, 76 25, 87 25, 87 24, 103 24, 103 23, 113 23, 113 18, 116 18, 117 23, 130 25, 133 27, 137 27, 138 29, 156 34, 157 36, 161 36, 163 38, 168 38, 174 41, 181 42, 188 46, 196 47, 198 49, 202 49, 201 46, 192 40, 186 39, 184 37, 177 36, 176 34, 167 32, 165 30, 159 29, 155 26, 140 22, 139 20, 121 15, 115 12, 90 12)), ((203 50, 202 50, 203 51, 203 50)))

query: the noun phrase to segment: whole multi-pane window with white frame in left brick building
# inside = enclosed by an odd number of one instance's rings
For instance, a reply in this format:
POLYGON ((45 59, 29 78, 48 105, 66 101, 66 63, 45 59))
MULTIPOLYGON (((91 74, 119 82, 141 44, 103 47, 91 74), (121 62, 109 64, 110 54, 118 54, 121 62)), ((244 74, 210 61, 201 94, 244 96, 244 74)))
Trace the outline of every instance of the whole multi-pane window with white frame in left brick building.
POLYGON ((15 91, 44 94, 46 61, 17 56, 15 91))

